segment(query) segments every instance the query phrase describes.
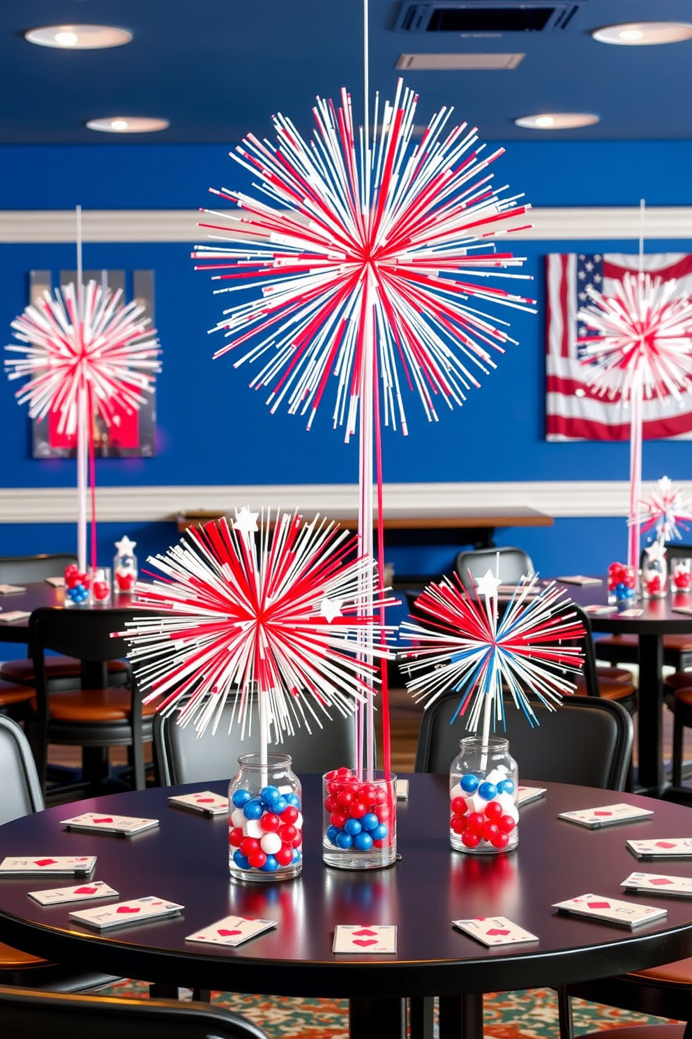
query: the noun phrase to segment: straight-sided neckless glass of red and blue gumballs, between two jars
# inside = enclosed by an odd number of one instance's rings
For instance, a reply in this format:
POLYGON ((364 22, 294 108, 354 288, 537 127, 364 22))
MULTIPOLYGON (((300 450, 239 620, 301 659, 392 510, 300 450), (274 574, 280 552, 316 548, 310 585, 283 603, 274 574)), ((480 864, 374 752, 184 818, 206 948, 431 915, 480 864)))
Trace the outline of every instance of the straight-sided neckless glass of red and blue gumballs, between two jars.
POLYGON ((323 776, 322 857, 338 870, 382 870, 396 859, 396 776, 351 769, 323 776))

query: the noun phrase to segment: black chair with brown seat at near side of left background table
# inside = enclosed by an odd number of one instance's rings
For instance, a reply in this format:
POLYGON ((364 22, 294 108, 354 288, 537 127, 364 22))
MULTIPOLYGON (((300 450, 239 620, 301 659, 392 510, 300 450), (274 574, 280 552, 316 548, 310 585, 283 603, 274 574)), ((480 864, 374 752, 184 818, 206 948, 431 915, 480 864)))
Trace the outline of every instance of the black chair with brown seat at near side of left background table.
POLYGON ((109 684, 108 663, 123 657, 123 632, 133 610, 34 610, 29 639, 35 670, 32 736, 41 784, 46 789, 48 744, 81 746, 84 779, 99 782, 108 774, 108 748, 127 746, 137 790, 144 787, 143 743, 153 739, 156 708, 143 705, 135 680, 128 687, 109 684), (46 650, 80 661, 81 674, 73 688, 52 690, 48 684, 46 650))

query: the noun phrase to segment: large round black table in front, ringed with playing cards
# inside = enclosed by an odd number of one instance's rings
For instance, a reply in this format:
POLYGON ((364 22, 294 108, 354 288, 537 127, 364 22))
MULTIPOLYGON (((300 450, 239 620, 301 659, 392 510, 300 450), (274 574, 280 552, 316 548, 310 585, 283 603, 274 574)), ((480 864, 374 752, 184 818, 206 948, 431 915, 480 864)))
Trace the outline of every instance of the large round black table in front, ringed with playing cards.
MULTIPOLYGON (((322 862, 321 781, 308 776, 302 877, 251 884, 229 881, 225 817, 172 808, 170 792, 111 795, 16 820, 0 828, 0 852, 96 854, 94 879, 107 881, 121 899, 156 895, 179 902, 182 917, 101 935, 68 921, 74 904, 44 908, 27 897, 68 881, 3 879, 0 939, 163 985, 345 997, 352 1036, 382 1039, 399 1039, 406 997, 440 995, 441 1037, 456 1034, 464 1017, 469 1039, 477 1039, 482 992, 608 977, 692 953, 692 903, 685 900, 630 896, 667 909, 663 922, 634 932, 559 916, 551 908, 586 893, 621 897, 620 881, 637 868, 626 838, 689 835, 692 814, 680 805, 550 784, 543 800, 522 808, 519 849, 481 858, 449 848, 446 777, 415 775, 409 801, 398 805, 400 861, 385 871, 342 872, 322 862), (622 800, 644 803, 654 816, 596 831, 557 819, 558 811, 622 800), (59 826, 85 810, 154 817, 161 825, 131 840, 59 826), (276 920, 278 927, 236 950, 186 942, 186 935, 229 913, 276 920), (491 914, 508 916, 539 941, 489 950, 451 927, 455 918, 491 914), (337 924, 396 924, 396 955, 334 955, 337 924)), ((692 876, 692 860, 658 869, 692 876)))

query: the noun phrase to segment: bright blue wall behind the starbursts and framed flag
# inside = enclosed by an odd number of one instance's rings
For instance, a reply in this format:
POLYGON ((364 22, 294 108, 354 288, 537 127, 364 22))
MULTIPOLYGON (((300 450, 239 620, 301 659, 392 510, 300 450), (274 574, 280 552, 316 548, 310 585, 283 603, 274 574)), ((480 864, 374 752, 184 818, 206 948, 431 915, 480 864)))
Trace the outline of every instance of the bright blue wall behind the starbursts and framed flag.
MULTIPOLYGON (((692 141, 586 142, 538 141, 508 145, 496 166, 498 183, 523 190, 536 206, 689 205, 692 141)), ((5 146, 0 148, 0 203, 4 209, 195 209, 213 205, 210 185, 246 186, 244 171, 214 145, 5 146)), ((201 237, 201 236, 200 236, 201 237)), ((202 239, 203 240, 203 239, 202 239)), ((193 243, 191 242, 191 245, 193 243)), ((408 481, 626 480, 626 444, 547 444, 544 439, 544 279, 546 251, 598 250, 603 243, 517 242, 534 277, 529 294, 538 316, 511 317, 510 346, 497 371, 483 378, 459 410, 423 419, 415 396, 407 401, 411 434, 385 437, 385 478, 408 481)), ((636 251, 636 242, 609 241, 608 251, 636 251)), ((647 241, 647 251, 689 251, 689 241, 647 241)), ((271 416, 261 394, 248 389, 246 369, 228 357, 212 361, 221 345, 206 329, 222 303, 212 295, 207 276, 195 273, 184 244, 87 244, 85 267, 154 268, 157 326, 164 348, 158 380, 158 454, 153 459, 104 459, 99 485, 352 483, 357 479, 357 447, 345 446, 330 427, 329 407, 307 433, 304 420, 285 412, 271 416)), ((74 267, 67 245, 0 245, 0 327, 10 341, 9 324, 26 305, 28 271, 74 267)), ((500 314, 506 317, 505 314, 500 314)), ((16 385, 0 379, 0 486, 72 486, 74 461, 36 461, 29 450, 26 409, 13 401, 16 385)), ((649 443, 644 447, 644 479, 664 473, 689 478, 692 442, 649 443)), ((181 503, 193 505, 194 503, 181 503)), ((290 503, 283 503, 289 505, 290 503)), ((102 530, 110 544, 118 530, 102 530), (113 533, 113 537, 111 534, 113 533)), ((172 525, 153 525, 137 534, 146 550, 162 550, 174 537, 172 525)), ((0 554, 70 548, 66 526, 0 524, 0 554)), ((556 523, 552 531, 508 531, 503 543, 520 541, 544 572, 593 569, 594 547, 601 568, 625 551, 622 520, 556 523)), ((438 548, 400 560, 402 568, 439 569, 455 547, 438 548), (410 563, 416 565, 411 566, 410 563)), ((395 556, 400 555, 394 553, 395 556)), ((142 553, 144 554, 144 553, 142 553)), ((397 565, 399 559, 394 560, 397 565)))

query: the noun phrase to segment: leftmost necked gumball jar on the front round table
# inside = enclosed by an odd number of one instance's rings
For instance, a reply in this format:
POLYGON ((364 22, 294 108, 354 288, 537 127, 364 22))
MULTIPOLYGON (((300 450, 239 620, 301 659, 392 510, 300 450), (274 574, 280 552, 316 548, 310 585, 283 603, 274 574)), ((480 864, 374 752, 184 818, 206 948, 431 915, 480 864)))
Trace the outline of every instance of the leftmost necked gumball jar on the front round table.
POLYGON ((241 754, 228 787, 228 869, 236 880, 290 880, 303 869, 300 779, 290 754, 241 754))

